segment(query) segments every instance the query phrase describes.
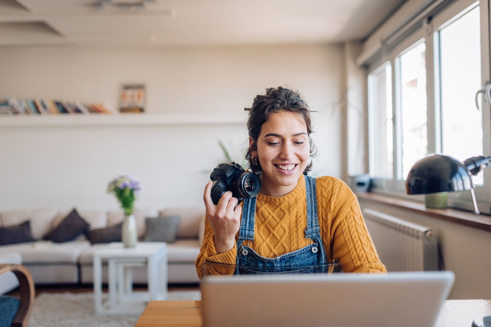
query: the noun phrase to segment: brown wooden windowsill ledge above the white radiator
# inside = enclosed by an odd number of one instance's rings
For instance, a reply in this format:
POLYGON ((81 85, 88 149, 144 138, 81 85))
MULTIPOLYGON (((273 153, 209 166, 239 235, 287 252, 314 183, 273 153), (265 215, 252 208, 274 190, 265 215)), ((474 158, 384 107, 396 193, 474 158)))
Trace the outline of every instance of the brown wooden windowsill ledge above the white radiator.
POLYGON ((437 219, 491 232, 491 216, 488 215, 474 214, 472 212, 455 209, 428 209, 425 207, 424 203, 412 202, 374 193, 356 193, 356 196, 361 200, 375 201, 397 208, 425 214, 437 219))

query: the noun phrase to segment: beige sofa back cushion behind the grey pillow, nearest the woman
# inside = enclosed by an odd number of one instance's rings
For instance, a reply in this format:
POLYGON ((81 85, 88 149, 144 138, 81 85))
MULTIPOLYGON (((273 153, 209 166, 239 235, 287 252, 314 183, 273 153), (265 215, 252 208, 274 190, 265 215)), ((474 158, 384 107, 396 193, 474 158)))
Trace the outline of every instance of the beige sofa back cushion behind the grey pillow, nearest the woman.
POLYGON ((199 223, 205 216, 204 208, 175 207, 166 208, 159 213, 160 216, 179 216, 178 238, 198 238, 199 223))

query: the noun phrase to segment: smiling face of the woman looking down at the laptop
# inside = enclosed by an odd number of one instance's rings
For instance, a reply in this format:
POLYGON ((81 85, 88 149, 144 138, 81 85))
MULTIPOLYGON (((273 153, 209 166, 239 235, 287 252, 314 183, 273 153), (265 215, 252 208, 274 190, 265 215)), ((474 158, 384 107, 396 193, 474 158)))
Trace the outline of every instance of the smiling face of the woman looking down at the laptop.
MULTIPOLYGON (((253 140, 249 138, 249 146, 253 140)), ((310 155, 307 125, 300 114, 280 111, 261 126, 257 139, 261 164, 261 193, 281 196, 291 192, 310 155)))

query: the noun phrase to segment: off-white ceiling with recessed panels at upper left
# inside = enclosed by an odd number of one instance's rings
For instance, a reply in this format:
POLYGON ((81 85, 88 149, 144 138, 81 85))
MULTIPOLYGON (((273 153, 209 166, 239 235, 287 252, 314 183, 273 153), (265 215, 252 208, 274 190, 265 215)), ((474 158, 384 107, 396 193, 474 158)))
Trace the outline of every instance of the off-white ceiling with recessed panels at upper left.
POLYGON ((336 43, 366 38, 404 0, 94 2, 0 0, 0 47, 336 43))

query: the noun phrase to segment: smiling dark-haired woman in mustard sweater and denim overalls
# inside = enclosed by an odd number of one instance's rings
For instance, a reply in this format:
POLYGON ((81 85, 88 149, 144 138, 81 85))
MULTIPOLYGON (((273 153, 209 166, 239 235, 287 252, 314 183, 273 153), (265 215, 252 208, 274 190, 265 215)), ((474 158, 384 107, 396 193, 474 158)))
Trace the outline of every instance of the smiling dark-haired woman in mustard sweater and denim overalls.
POLYGON ((208 182, 198 276, 205 261, 268 267, 339 260, 344 272, 385 273, 350 188, 331 176, 303 174, 312 168, 315 146, 300 94, 278 87, 257 95, 247 128, 246 159, 260 173, 261 192, 237 206, 227 191, 215 206, 208 182))

